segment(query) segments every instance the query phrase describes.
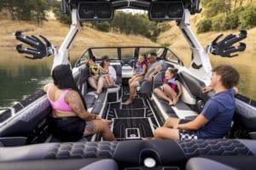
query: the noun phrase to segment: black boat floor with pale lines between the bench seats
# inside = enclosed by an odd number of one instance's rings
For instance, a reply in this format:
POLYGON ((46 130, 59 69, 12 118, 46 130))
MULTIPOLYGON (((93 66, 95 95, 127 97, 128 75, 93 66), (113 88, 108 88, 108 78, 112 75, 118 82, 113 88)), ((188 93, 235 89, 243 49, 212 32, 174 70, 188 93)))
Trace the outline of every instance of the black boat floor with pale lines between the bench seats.
POLYGON ((153 137, 154 129, 160 127, 161 118, 145 94, 137 94, 130 105, 128 88, 123 88, 122 101, 108 104, 107 119, 112 120, 111 130, 117 140, 153 137))

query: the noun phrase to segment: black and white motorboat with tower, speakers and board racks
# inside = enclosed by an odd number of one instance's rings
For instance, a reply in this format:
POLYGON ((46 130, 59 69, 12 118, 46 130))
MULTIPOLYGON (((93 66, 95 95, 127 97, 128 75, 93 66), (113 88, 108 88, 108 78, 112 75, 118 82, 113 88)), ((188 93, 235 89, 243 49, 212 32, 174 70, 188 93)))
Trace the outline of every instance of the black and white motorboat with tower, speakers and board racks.
POLYGON ((42 59, 54 54, 55 65, 70 64, 68 51, 78 36, 81 22, 112 20, 114 11, 123 8, 148 11, 150 20, 176 20, 177 26, 191 49, 189 67, 183 65, 172 48, 166 47, 92 47, 73 65, 73 77, 84 95, 88 111, 112 120, 111 130, 116 141, 104 141, 94 134, 78 141, 55 139, 49 127, 51 107, 43 90, 21 100, 0 115, 0 169, 253 169, 256 160, 256 103, 253 99, 236 94, 236 112, 230 132, 224 139, 188 139, 182 141, 147 139, 154 129, 168 117, 193 120, 201 113, 207 99, 214 92, 202 93, 211 80, 212 65, 209 53, 222 57, 243 51, 246 31, 217 37, 205 48, 195 37, 189 25, 189 16, 201 12, 199 0, 62 0, 62 12, 71 14, 72 25, 61 47, 56 49, 44 36, 25 36, 17 31, 21 44, 17 51, 30 54, 30 59, 42 59), (237 47, 234 43, 240 42, 237 47), (128 79, 139 54, 156 53, 163 71, 153 81, 145 80, 137 89, 131 105, 123 102, 129 97, 128 79), (108 55, 110 65, 117 72, 113 88, 96 95, 87 82, 89 71, 85 62, 108 55), (152 92, 162 84, 166 68, 177 68, 183 95, 177 105, 168 105, 152 92), (204 167, 205 166, 205 167, 204 167))

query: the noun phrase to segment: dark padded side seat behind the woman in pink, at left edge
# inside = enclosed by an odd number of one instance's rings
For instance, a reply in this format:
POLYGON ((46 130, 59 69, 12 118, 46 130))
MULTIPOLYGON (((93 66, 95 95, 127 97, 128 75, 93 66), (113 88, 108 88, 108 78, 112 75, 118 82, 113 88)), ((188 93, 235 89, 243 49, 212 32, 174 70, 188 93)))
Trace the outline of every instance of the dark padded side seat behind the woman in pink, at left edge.
POLYGON ((13 144, 23 144, 23 137, 34 143, 42 142, 38 140, 47 138, 48 127, 45 120, 50 112, 47 96, 43 95, 36 102, 20 110, 5 126, 0 127, 0 137, 11 139, 13 144), (19 138, 15 139, 17 136, 19 138), (34 138, 36 136, 37 138, 34 138))

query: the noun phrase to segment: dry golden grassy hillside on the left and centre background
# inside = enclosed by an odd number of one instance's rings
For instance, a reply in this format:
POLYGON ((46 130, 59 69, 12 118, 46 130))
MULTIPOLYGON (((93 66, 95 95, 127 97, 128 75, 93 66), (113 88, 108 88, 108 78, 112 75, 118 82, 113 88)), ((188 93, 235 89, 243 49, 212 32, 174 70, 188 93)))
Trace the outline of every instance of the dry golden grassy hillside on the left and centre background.
MULTIPOLYGON (((44 35, 53 42, 56 47, 61 46, 61 42, 69 31, 69 26, 63 25, 56 20, 45 21, 43 26, 36 26, 34 23, 25 21, 11 21, 0 19, 0 47, 15 48, 19 43, 15 40, 15 31, 24 31, 25 35, 44 35)), ((134 45, 157 45, 148 38, 140 36, 125 36, 113 32, 96 31, 89 27, 82 27, 78 36, 73 42, 73 55, 79 55, 87 47, 102 46, 134 46, 134 45)), ((1 57, 1 56, 0 56, 1 57)))

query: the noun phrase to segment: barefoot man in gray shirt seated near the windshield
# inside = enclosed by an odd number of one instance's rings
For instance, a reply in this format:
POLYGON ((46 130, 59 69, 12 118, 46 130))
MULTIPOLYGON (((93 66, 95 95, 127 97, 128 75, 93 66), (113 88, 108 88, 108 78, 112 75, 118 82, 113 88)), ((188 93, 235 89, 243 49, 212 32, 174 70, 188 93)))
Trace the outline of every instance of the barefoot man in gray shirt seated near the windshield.
MULTIPOLYGON (((152 81, 152 78, 156 73, 162 70, 160 63, 156 61, 156 56, 157 54, 155 53, 148 54, 148 71, 145 74, 144 80, 148 80, 149 82, 152 81)), ((124 103, 125 105, 130 105, 133 102, 133 99, 137 95, 137 87, 139 86, 140 86, 139 81, 131 82, 131 84, 129 84, 130 97, 129 99, 127 99, 127 101, 125 101, 124 103)))

